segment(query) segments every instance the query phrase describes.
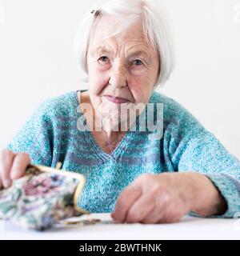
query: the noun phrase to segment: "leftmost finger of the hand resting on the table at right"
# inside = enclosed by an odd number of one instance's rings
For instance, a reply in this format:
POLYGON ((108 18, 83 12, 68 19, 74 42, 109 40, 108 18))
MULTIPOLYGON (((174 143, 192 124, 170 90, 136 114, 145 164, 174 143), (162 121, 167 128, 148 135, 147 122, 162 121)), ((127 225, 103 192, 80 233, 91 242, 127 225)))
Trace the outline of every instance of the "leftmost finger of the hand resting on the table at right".
POLYGON ((142 188, 140 186, 127 186, 125 190, 120 194, 115 206, 115 211, 112 217, 117 222, 124 222, 126 213, 130 206, 137 200, 142 194, 142 188))

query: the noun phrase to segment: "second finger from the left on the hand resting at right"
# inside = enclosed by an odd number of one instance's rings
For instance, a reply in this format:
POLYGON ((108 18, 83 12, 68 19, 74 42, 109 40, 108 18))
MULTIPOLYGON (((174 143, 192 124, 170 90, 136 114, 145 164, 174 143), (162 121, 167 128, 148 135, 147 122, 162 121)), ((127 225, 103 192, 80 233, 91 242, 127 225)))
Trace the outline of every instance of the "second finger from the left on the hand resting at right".
POLYGON ((141 222, 154 209, 155 203, 151 194, 142 195, 130 206, 130 210, 126 213, 126 222, 141 222))

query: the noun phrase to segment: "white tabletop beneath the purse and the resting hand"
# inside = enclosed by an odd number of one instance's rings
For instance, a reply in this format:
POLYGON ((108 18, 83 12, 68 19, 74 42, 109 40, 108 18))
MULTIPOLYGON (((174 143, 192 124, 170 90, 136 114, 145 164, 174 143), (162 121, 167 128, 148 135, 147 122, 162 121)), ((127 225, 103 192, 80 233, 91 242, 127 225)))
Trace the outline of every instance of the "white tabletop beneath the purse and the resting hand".
POLYGON ((115 224, 110 214, 82 215, 78 220, 99 218, 87 226, 56 226, 46 231, 23 230, 0 221, 0 239, 240 239, 240 219, 184 216, 171 224, 115 224))

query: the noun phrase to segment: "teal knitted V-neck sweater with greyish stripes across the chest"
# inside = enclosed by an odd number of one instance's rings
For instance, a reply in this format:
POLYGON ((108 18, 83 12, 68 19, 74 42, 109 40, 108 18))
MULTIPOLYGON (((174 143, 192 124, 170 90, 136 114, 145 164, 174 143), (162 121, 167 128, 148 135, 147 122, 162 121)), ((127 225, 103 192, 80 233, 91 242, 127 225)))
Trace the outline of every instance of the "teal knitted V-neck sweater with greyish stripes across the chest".
POLYGON ((80 207, 112 212, 121 191, 141 174, 196 171, 226 199, 226 213, 214 217, 233 218, 240 212, 240 162, 178 102, 154 91, 149 102, 163 104, 162 138, 150 139, 149 130, 128 130, 113 153, 106 154, 90 130, 77 127, 81 118, 86 122, 77 92, 42 102, 6 147, 30 154, 34 164, 55 167, 62 162, 63 170, 84 174, 80 207))

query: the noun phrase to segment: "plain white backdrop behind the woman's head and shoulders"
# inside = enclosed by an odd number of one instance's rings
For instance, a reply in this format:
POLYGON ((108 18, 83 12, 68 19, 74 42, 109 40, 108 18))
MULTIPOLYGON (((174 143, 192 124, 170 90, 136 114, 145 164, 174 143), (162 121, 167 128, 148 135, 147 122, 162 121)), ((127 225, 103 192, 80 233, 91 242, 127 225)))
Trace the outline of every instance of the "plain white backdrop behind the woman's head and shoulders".
MULTIPOLYGON (((44 99, 86 88, 73 55, 95 2, 0 0, 0 147, 44 99)), ((240 159, 240 0, 167 0, 177 65, 159 91, 240 159)))

